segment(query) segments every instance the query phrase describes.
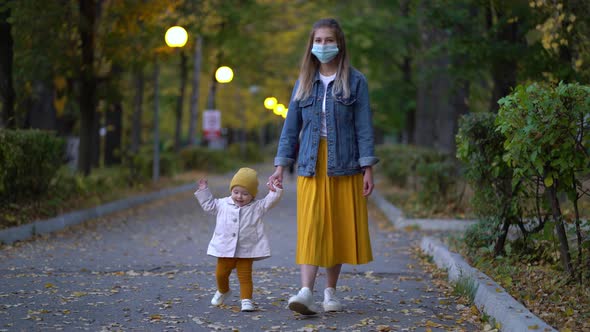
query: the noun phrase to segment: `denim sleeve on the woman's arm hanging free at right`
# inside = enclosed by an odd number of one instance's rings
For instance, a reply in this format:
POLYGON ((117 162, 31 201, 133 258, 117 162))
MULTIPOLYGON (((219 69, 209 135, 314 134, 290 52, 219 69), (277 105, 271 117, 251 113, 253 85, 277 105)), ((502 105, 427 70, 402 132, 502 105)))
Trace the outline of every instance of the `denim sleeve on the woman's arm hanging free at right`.
POLYGON ((375 135, 373 114, 369 104, 369 86, 367 79, 361 75, 357 86, 357 109, 355 110, 355 131, 359 149, 359 165, 373 166, 379 162, 375 156, 375 135))

